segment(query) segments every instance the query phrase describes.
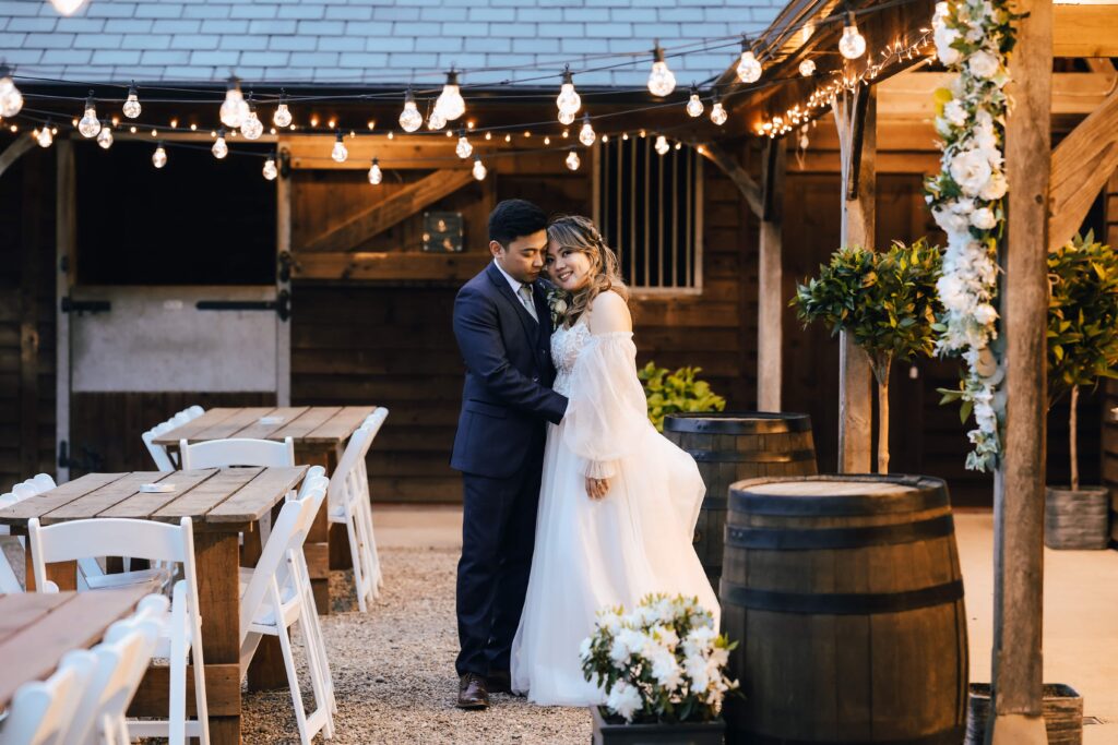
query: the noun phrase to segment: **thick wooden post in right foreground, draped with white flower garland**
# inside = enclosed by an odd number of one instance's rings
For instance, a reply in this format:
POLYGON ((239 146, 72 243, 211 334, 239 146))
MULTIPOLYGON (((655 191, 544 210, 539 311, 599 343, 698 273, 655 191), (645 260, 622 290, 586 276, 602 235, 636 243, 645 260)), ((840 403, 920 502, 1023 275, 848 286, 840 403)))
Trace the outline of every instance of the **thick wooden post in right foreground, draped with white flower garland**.
POLYGON ((986 742, 1046 743, 1042 717, 1044 456, 1052 3, 1021 0, 1005 127, 1008 228, 1002 283, 1007 395, 994 479, 993 707, 986 742))

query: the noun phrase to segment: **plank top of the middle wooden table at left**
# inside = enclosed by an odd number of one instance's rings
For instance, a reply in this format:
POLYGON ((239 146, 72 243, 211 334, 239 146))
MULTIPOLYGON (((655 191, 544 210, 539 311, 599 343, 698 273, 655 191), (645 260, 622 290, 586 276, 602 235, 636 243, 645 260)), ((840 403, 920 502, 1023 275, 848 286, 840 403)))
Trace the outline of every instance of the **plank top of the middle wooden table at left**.
MULTIPOLYGON (((254 523, 299 486, 306 466, 294 468, 206 468, 188 471, 87 474, 0 509, 0 525, 26 526, 92 517, 131 517, 196 523, 236 529, 254 523), (174 491, 143 493, 142 484, 170 484, 174 491)), ((2 658, 0 658, 2 659, 2 658)))

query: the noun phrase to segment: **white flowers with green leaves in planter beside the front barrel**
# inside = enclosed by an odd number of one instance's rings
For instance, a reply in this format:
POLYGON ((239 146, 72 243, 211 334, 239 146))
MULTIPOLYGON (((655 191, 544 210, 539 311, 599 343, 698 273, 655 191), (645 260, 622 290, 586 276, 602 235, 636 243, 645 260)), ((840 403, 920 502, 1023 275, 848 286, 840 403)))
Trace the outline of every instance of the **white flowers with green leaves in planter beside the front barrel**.
POLYGON ((582 641, 582 672, 596 682, 606 708, 626 722, 708 722, 738 688, 726 677, 737 646, 714 630, 698 598, 648 595, 632 612, 598 612, 582 641))

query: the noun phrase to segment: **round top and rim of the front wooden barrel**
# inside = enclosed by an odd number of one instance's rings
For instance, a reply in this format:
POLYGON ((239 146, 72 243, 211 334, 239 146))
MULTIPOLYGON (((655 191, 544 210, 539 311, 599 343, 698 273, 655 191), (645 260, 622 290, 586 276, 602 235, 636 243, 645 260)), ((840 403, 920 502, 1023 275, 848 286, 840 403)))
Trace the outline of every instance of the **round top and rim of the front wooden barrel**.
POLYGON ((949 504, 946 483, 929 476, 851 474, 730 485, 730 509, 754 515, 909 513, 949 504))

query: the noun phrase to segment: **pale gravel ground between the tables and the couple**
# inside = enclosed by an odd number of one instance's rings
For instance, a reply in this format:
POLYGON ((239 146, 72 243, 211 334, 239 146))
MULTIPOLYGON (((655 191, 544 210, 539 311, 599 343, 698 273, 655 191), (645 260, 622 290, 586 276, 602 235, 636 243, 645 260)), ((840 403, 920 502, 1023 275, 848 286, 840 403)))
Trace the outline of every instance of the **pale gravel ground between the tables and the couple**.
MULTIPOLYGON (((493 696, 485 711, 454 707, 458 651, 451 550, 381 551, 385 589, 368 613, 352 602, 352 580, 331 579, 333 614, 323 633, 338 698, 332 743, 587 743, 587 709, 540 707, 523 698, 493 696)), ((302 650, 296 652, 302 659, 302 650)), ((301 680, 304 697, 310 680, 301 680)), ((248 694, 246 745, 297 743, 286 689, 248 694)), ((321 737, 320 737, 321 741, 321 737)))

